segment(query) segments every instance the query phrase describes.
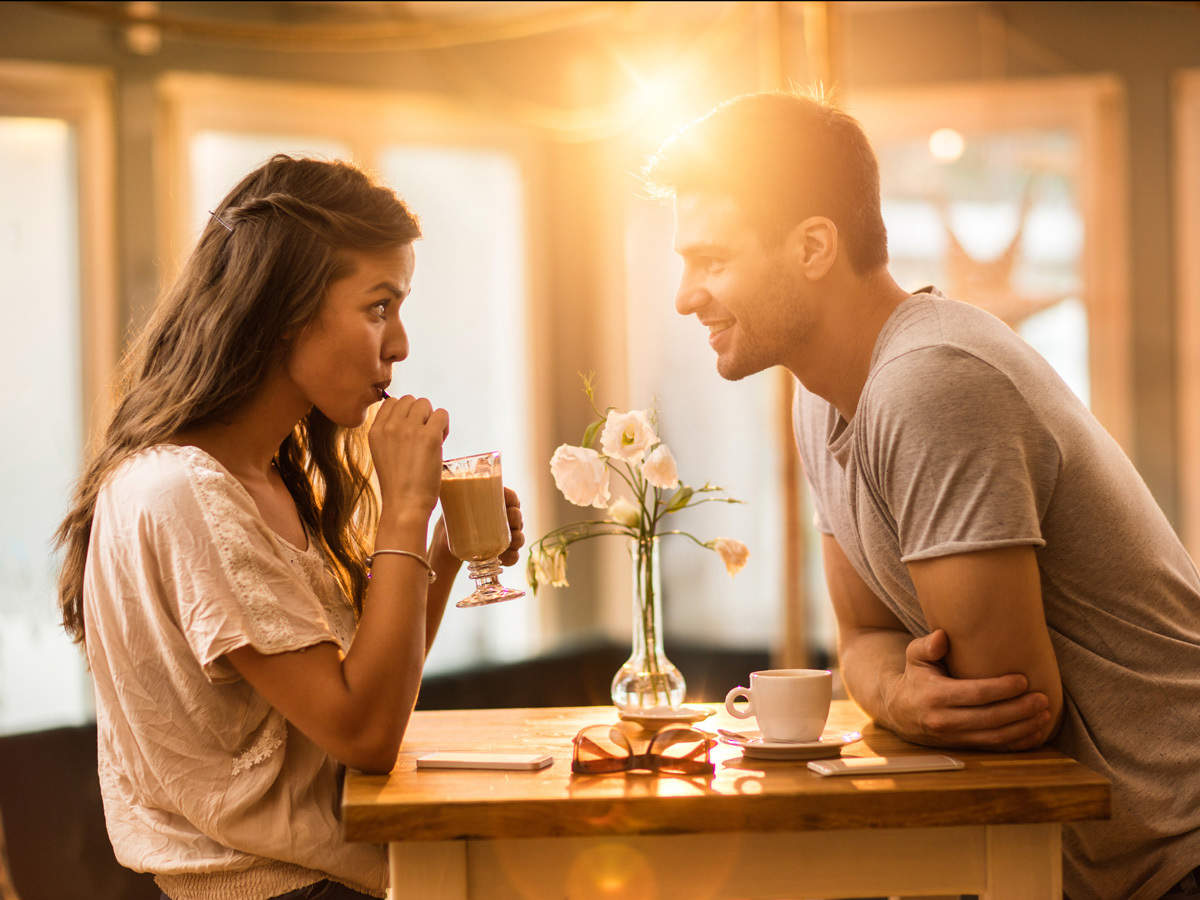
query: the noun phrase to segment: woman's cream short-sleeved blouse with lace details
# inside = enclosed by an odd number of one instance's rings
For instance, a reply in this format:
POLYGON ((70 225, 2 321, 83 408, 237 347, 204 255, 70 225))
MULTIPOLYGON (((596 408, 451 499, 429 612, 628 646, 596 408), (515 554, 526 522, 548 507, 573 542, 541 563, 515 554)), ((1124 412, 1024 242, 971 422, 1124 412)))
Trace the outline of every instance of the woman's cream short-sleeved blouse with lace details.
POLYGON ((265 900, 325 877, 384 895, 384 848, 341 836, 337 764, 223 655, 349 648, 354 611, 314 541, 280 538, 204 451, 149 448, 97 499, 84 622, 122 865, 175 900, 265 900))

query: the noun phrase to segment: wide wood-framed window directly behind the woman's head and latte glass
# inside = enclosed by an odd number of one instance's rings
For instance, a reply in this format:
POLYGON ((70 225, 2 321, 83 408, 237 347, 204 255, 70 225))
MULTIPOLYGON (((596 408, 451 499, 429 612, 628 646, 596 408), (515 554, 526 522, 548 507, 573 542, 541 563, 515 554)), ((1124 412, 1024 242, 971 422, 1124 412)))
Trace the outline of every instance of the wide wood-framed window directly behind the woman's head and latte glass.
MULTIPOLYGON (((166 78, 162 91, 170 148, 164 196, 182 200, 168 212, 164 258, 176 264, 209 210, 275 152, 354 162, 412 206, 422 230, 402 313, 412 349, 394 370, 391 392, 427 396, 449 410, 446 457, 502 450, 505 481, 521 492, 528 521, 545 479, 534 478, 527 427, 528 226, 520 144, 494 126, 485 138, 479 122, 449 106, 390 94, 182 74, 166 78)), ((523 587, 523 566, 506 569, 503 580, 523 587)), ((451 604, 472 589, 463 566, 451 604)), ((520 658, 539 649, 539 631, 532 592, 517 602, 451 606, 426 671, 520 658)))

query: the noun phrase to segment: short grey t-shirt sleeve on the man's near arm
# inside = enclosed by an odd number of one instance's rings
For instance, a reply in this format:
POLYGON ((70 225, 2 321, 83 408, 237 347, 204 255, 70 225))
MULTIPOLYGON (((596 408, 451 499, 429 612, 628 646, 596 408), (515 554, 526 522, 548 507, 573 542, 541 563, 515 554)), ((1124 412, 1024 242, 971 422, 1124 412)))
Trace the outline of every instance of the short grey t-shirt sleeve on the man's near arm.
POLYGON ((1045 545, 1061 455, 1004 373, 954 347, 912 350, 872 377, 859 412, 860 466, 902 562, 1045 545))

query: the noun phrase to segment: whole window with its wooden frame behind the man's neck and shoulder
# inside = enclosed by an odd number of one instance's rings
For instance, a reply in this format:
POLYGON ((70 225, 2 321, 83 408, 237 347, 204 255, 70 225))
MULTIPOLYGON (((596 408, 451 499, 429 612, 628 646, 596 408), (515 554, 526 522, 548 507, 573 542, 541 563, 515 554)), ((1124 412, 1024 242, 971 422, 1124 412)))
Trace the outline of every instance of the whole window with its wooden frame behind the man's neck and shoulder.
POLYGON ((892 272, 1012 325, 1127 449, 1121 94, 1104 77, 856 94, 892 272))

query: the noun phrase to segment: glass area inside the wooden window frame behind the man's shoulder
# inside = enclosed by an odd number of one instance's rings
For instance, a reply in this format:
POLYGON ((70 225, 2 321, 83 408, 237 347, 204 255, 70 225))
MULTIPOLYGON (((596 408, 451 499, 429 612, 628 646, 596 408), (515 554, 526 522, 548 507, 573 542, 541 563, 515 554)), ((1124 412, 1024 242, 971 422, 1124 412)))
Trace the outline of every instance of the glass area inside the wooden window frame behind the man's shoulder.
POLYGON ((876 150, 900 286, 932 282, 992 312, 1087 403, 1078 138, 1057 128, 968 138, 944 128, 886 139, 876 150))

